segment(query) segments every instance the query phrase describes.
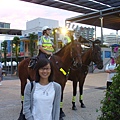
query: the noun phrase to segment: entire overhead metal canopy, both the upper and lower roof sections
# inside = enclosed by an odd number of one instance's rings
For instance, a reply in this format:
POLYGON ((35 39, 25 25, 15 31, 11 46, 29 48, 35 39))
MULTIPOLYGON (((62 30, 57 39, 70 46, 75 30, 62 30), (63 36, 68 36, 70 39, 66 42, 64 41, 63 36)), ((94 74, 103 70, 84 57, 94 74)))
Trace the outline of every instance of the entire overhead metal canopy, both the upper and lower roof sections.
POLYGON ((84 15, 66 19, 69 22, 101 26, 120 30, 120 0, 21 0, 39 5, 59 8, 84 15))

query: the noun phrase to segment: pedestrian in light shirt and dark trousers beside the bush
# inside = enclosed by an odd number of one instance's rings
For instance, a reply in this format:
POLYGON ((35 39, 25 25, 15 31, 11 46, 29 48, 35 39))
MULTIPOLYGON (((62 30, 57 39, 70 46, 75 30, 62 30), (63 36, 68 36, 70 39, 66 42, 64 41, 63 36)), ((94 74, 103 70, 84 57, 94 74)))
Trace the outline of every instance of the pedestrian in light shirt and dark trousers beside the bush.
POLYGON ((108 77, 107 77, 108 90, 110 90, 110 85, 112 84, 112 78, 116 74, 116 70, 115 70, 116 67, 117 67, 117 64, 116 64, 115 58, 112 56, 110 63, 106 65, 106 69, 105 69, 105 71, 108 73, 108 77))

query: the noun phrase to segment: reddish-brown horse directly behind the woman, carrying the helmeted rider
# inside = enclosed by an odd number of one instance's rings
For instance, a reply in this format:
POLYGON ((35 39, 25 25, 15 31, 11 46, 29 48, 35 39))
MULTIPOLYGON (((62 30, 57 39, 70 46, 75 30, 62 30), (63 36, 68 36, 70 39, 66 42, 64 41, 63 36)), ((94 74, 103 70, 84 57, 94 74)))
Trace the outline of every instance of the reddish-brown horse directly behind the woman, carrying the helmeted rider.
MULTIPOLYGON (((64 46, 60 51, 52 55, 50 58, 54 67, 54 81, 59 83, 62 87, 61 107, 60 107, 61 117, 65 116, 64 112, 62 111, 62 100, 63 100, 63 91, 67 81, 68 71, 70 67, 73 66, 80 67, 80 65, 82 64, 81 51, 82 51, 82 47, 80 42, 72 41, 71 43, 64 46)), ((29 62, 30 62, 30 58, 27 58, 21 61, 18 66, 19 78, 21 81, 22 101, 23 101, 24 89, 27 83, 27 79, 29 79, 30 81, 35 80, 36 71, 31 68, 28 68, 29 62)), ((21 110, 21 114, 22 114, 22 110, 21 110)))

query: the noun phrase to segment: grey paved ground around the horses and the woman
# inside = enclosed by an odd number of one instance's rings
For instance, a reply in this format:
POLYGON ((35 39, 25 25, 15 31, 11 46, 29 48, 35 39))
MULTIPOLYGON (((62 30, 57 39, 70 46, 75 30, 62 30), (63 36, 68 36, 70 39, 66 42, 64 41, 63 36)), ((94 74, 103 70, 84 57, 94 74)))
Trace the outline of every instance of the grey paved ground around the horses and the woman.
MULTIPOLYGON (((72 82, 68 81, 64 91, 63 110, 66 114, 64 120, 96 120, 100 112, 100 101, 103 99, 106 85, 106 73, 88 74, 84 85, 84 103, 81 108, 77 96, 77 111, 71 109, 72 82)), ((11 78, 12 79, 12 78, 11 78)), ((0 86, 0 120, 17 120, 20 109, 20 81, 7 78, 0 86)))

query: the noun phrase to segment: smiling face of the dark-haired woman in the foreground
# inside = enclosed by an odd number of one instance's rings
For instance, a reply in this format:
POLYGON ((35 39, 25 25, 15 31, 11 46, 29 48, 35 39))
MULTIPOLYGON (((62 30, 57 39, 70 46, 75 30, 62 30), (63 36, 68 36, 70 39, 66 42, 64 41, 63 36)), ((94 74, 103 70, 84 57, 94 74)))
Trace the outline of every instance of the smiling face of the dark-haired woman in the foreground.
POLYGON ((44 66, 43 68, 39 69, 39 75, 43 79, 48 79, 48 77, 50 76, 50 73, 51 73, 50 64, 48 64, 48 65, 44 66))

